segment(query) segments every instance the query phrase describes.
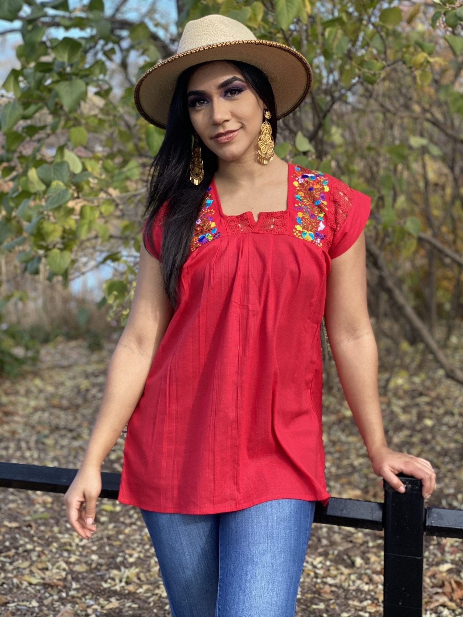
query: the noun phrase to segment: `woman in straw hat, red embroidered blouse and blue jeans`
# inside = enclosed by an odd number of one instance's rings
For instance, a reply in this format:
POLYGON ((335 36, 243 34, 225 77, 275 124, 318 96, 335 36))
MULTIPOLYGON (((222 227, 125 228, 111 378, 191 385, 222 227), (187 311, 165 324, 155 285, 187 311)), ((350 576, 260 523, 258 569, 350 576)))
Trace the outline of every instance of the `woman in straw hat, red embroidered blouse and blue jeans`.
POLYGON ((273 152, 277 119, 311 78, 298 52, 211 15, 135 89, 166 133, 130 316, 65 502, 91 537, 101 463, 130 420, 119 502, 140 508, 175 617, 294 615, 315 503, 330 497, 323 314, 373 471, 398 491, 400 471, 425 496, 435 486, 427 460, 385 440, 370 197, 273 152))

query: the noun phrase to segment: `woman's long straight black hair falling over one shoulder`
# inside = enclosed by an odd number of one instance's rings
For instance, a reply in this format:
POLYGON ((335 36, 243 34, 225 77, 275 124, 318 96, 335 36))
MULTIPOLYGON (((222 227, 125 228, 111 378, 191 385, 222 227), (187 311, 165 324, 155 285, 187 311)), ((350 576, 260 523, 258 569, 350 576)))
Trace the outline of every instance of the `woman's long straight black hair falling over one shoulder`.
MULTIPOLYGON (((277 109, 272 86, 265 74, 246 62, 227 60, 240 70, 244 79, 267 109, 269 109, 272 137, 277 138, 277 109)), ((201 210, 206 190, 217 170, 217 155, 199 138, 204 178, 198 186, 190 181, 190 159, 194 129, 186 104, 186 88, 194 71, 209 62, 187 68, 178 77, 167 118, 164 141, 154 157, 148 174, 148 200, 144 215, 148 213, 143 234, 145 246, 153 249, 152 224, 162 205, 165 205, 162 235, 162 276, 164 288, 175 309, 177 307, 177 284, 180 270, 188 254, 194 225, 201 210), (150 179, 151 178, 151 179, 150 179)))

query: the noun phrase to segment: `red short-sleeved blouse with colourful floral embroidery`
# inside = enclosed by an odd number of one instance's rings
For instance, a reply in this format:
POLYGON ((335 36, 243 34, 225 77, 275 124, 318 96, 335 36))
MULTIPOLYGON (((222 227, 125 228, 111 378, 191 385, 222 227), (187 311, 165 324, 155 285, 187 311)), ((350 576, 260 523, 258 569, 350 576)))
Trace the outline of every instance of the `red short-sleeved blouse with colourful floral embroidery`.
MULTIPOLYGON (((370 202, 288 164, 286 210, 256 222, 224 215, 212 180, 178 307, 128 422, 120 503, 185 514, 328 503, 320 323, 331 261, 361 234, 370 202)), ((156 223, 144 241, 162 259, 156 223)))

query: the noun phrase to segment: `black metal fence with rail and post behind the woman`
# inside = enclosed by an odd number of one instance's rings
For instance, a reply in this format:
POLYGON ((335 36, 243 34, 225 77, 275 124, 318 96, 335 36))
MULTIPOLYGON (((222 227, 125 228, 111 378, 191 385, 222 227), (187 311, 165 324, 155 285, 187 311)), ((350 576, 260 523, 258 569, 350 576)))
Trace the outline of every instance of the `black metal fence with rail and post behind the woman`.
MULTIPOLYGON (((77 470, 0 462, 0 486, 65 493, 77 470)), ((384 531, 384 617, 422 617, 424 537, 463 538, 463 510, 425 507, 421 480, 399 473, 406 492, 386 481, 384 502, 331 497, 314 523, 384 531)), ((102 472, 100 497, 117 499, 120 473, 102 472)))

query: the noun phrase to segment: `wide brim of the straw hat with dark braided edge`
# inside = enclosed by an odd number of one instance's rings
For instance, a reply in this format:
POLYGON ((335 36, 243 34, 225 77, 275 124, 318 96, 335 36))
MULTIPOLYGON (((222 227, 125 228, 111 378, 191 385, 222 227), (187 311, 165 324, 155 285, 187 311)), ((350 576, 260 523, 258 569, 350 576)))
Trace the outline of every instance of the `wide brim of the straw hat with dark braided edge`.
POLYGON ((159 128, 166 128, 180 73, 210 60, 241 60, 260 68, 272 86, 278 120, 291 114, 311 88, 309 62, 287 45, 264 39, 213 43, 175 54, 144 73, 134 93, 135 106, 141 116, 159 128))

